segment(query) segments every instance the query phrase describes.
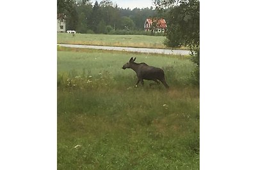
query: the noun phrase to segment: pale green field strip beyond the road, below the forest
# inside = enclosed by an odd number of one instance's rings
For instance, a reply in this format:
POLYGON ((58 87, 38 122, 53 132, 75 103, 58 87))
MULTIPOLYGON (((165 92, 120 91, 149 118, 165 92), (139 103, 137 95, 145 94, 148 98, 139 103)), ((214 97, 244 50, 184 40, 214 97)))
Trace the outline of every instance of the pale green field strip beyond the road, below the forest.
POLYGON ((58 33, 57 36, 58 43, 63 44, 166 48, 164 36, 76 34, 73 37, 67 33, 58 33))

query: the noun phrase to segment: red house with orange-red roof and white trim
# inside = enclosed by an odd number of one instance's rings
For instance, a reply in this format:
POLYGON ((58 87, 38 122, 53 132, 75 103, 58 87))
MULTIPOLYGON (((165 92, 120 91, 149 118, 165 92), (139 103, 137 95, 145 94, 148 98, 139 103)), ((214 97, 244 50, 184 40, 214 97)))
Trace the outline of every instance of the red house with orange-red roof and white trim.
POLYGON ((147 18, 144 24, 145 31, 153 31, 153 32, 166 32, 166 22, 164 18, 156 19, 156 18, 147 18))

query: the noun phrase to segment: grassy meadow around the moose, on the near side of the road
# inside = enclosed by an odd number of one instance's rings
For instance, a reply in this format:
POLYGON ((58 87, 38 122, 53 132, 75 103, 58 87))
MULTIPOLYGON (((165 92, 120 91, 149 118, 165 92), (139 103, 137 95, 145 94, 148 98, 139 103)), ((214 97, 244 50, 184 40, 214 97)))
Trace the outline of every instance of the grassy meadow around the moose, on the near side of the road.
POLYGON ((185 56, 58 47, 58 169, 199 169, 199 89, 185 56), (122 65, 162 67, 134 87, 122 65))

